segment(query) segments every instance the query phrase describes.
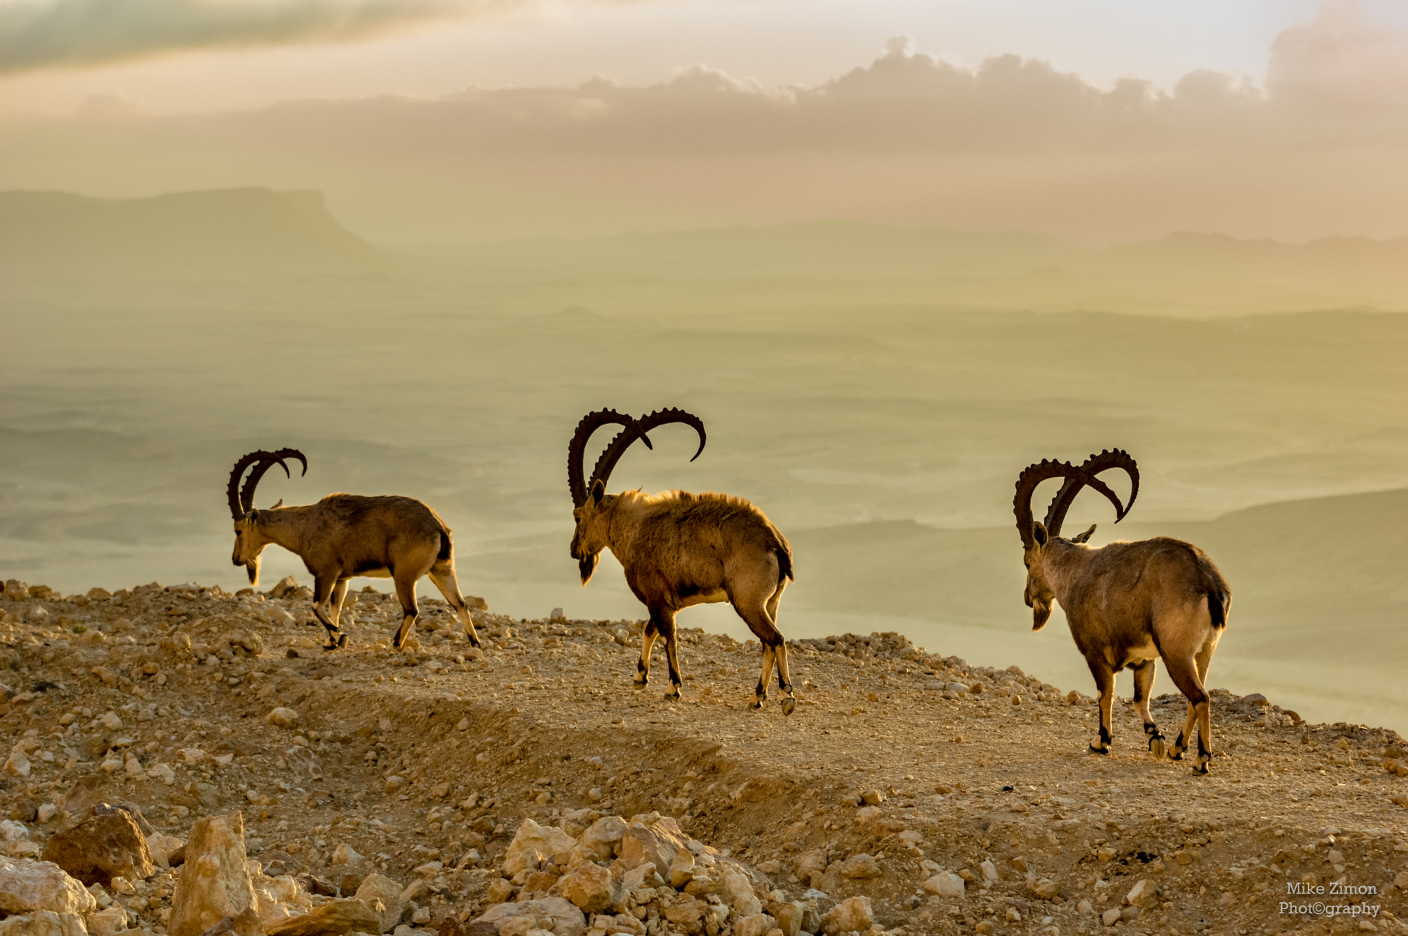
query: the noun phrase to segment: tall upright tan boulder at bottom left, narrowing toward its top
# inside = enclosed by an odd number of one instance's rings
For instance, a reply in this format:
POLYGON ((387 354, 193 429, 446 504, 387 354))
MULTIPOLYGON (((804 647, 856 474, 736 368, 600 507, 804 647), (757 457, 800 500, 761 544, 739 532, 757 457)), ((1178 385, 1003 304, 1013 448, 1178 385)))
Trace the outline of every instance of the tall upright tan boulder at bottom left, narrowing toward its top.
POLYGON ((193 825, 166 932, 200 936, 227 916, 256 908, 255 899, 245 868, 244 816, 235 811, 193 825))

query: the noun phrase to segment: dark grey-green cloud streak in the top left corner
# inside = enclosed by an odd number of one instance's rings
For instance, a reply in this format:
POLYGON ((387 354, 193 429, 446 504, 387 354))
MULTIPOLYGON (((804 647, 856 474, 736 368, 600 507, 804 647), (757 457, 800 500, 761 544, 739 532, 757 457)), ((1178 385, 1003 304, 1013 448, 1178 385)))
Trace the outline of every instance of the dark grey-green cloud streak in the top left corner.
POLYGON ((356 39, 513 0, 3 0, 0 75, 163 52, 356 39))

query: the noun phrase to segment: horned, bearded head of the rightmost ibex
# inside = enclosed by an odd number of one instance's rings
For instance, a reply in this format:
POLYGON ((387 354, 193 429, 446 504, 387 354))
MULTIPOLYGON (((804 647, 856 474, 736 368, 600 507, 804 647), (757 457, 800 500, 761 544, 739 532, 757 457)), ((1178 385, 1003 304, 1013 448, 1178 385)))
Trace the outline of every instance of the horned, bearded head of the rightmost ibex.
MULTIPOLYGON (((1031 464, 1017 479, 1017 495, 1012 498, 1012 510, 1017 514, 1017 532, 1022 536, 1022 562, 1026 564, 1026 590, 1022 598, 1032 609, 1032 631, 1041 631, 1052 615, 1052 605, 1056 593, 1046 580, 1046 566, 1043 559, 1052 540, 1062 539, 1060 528, 1066 521, 1066 511, 1070 510, 1076 494, 1081 487, 1090 487, 1104 494, 1115 505, 1115 522, 1118 524, 1133 507, 1135 497, 1139 495, 1139 466, 1125 452, 1118 449, 1091 455, 1084 464, 1076 467, 1069 462, 1043 460, 1031 464), (1108 469, 1124 469, 1129 474, 1129 504, 1121 504, 1110 487, 1097 474, 1108 469), (1032 519, 1032 494, 1036 486, 1052 477, 1063 477, 1066 483, 1056 491, 1050 507, 1046 508, 1046 522, 1032 519)), ((1090 529, 1066 539, 1067 543, 1084 543, 1095 532, 1090 529)))

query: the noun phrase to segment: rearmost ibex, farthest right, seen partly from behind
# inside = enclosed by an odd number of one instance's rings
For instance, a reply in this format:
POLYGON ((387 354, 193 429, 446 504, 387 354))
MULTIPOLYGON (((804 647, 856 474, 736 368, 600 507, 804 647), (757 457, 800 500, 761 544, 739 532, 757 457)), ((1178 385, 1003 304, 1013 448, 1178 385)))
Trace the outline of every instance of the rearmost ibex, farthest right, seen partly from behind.
POLYGON ((1155 660, 1162 656, 1169 677, 1188 700, 1188 718, 1169 754, 1183 759, 1197 722, 1194 773, 1205 774, 1212 760, 1212 726, 1204 681, 1226 628, 1232 590, 1207 553, 1178 539, 1157 536, 1095 548, 1087 545, 1094 526, 1064 539, 1062 522, 1081 487, 1105 495, 1115 505, 1118 524, 1139 494, 1139 467, 1129 455, 1114 450, 1093 455, 1080 467, 1067 462, 1041 462, 1017 479, 1014 510, 1017 531, 1022 535, 1025 600, 1032 609, 1032 631, 1046 625, 1052 601, 1059 601, 1100 691, 1100 738, 1090 745, 1098 754, 1110 753, 1115 673, 1128 666, 1149 750, 1163 757, 1164 738, 1149 714, 1155 660), (1129 474, 1129 504, 1122 505, 1095 477, 1110 469, 1129 474), (1038 484, 1052 477, 1063 477, 1066 483, 1052 500, 1046 522, 1033 522, 1032 494, 1038 484))

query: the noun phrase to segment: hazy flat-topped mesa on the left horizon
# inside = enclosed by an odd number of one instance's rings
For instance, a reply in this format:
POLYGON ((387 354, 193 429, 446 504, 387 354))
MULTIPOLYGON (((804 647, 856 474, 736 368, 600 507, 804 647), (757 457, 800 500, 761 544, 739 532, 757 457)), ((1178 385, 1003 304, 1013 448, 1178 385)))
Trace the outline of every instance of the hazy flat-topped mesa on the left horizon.
POLYGON ((365 274, 380 251, 317 191, 224 189, 152 198, 0 193, 0 273, 131 279, 365 274))

